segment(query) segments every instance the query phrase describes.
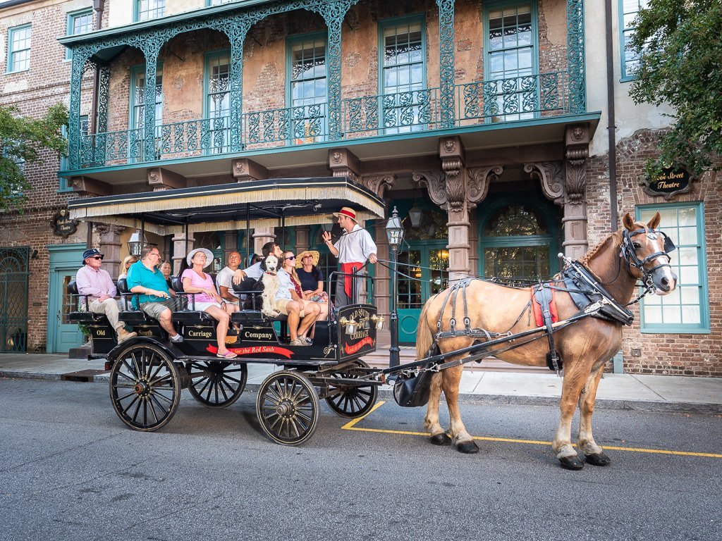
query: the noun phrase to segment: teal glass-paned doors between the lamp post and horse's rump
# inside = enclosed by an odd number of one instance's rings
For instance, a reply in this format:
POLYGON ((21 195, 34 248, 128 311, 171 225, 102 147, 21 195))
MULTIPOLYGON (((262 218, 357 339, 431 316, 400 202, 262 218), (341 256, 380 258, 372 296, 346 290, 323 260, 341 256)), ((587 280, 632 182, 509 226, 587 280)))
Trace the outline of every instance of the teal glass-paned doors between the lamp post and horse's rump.
POLYGON ((430 296, 448 287, 448 250, 446 242, 414 242, 399 255, 398 312, 399 342, 415 343, 419 315, 430 296))

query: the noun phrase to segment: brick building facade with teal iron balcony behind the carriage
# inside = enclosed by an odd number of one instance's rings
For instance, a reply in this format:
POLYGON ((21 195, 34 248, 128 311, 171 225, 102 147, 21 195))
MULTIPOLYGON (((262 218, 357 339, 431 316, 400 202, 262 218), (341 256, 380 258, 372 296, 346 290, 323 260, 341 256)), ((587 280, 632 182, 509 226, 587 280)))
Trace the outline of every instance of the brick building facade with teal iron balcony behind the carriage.
MULTIPOLYGON (((616 15, 623 3, 613 4, 616 15)), ((0 104, 15 105, 24 115, 39 115, 57 101, 71 110, 68 160, 61 164, 48 155, 40 166, 28 166, 35 190, 25 212, 0 216, 0 248, 38 250, 28 260, 28 351, 66 346, 64 331, 53 325, 61 324, 67 299, 53 291, 48 296, 48 283, 61 285, 86 244, 100 246, 106 268, 117 275, 134 232, 95 224, 89 238, 82 222, 70 237, 54 235, 51 220, 69 198, 249 179, 352 177, 404 216, 413 208, 422 211, 418 224, 406 222, 410 241, 403 257, 414 278, 421 278, 420 285, 409 280, 399 290, 402 340, 408 341, 423 300, 448 279, 442 271, 448 269, 451 279, 512 271, 546 278, 559 268, 557 252, 578 257, 612 229, 604 94, 609 71, 599 53, 605 21, 591 3, 149 5, 159 9, 142 13, 140 3, 122 0, 0 4, 0 60, 8 63, 14 52, 12 32, 32 27, 29 69, 6 66, 0 104), (98 30, 63 38, 89 13, 98 30), (77 55, 75 62, 66 60, 58 38, 77 55), (149 64, 157 65, 157 92, 149 83, 149 64), (155 108, 149 107, 154 97, 155 108), (149 129, 155 137, 143 136, 149 129), (63 190, 65 185, 70 189, 63 190), (500 235, 503 224, 520 216, 525 230, 513 238, 500 235)), ((616 19, 612 30, 619 35, 616 19)), ((643 314, 634 308, 638 318, 625 329, 625 369, 718 376, 722 361, 713 351, 720 345, 722 305, 713 285, 722 276, 722 252, 716 179, 708 173, 669 200, 640 187, 664 117, 663 111, 630 103, 628 79, 620 77, 619 43, 612 62, 615 211, 621 218, 627 211, 645 216, 656 207, 674 209, 676 234, 705 233, 682 242, 684 298, 643 304, 643 314), (679 221, 692 215, 694 227, 679 221), (690 259, 694 250, 696 263, 690 259), (708 270, 700 283, 690 282, 695 264, 708 270)), ((383 223, 366 226, 383 257, 383 223)), ((255 250, 280 234, 254 232, 255 250)), ((283 234, 284 244, 296 250, 319 246, 318 228, 283 234)), ((176 263, 186 246, 208 247, 220 261, 248 243, 240 231, 149 237, 176 263)), ((327 253, 322 261, 333 268, 327 253)), ((385 272, 379 268, 377 278, 385 272)), ((388 313, 383 281, 375 301, 388 313)))

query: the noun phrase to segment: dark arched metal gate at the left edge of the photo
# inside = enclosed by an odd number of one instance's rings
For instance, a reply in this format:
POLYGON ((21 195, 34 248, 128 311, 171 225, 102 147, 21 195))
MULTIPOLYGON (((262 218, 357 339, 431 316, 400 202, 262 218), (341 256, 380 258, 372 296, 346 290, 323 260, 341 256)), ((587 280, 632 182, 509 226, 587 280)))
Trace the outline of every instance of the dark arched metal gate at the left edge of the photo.
POLYGON ((30 247, 0 248, 0 353, 27 350, 30 247))

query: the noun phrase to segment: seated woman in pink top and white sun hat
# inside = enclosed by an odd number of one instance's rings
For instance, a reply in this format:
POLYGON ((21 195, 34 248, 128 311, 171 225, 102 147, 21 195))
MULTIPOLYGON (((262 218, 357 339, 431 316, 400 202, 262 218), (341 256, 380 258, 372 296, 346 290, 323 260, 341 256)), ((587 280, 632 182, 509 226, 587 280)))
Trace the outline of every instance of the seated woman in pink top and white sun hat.
MULTIPOLYGON (((225 337, 228 334, 230 314, 238 310, 238 307, 233 304, 227 304, 221 298, 213 285, 213 279, 203 271, 204 268, 212 263, 213 254, 205 248, 196 248, 196 250, 191 250, 186 261, 191 268, 186 268, 183 274, 181 274, 183 291, 186 291, 186 293, 195 293, 196 310, 203 310, 211 315, 214 320, 217 320, 216 338, 218 340, 218 353, 216 356, 221 359, 235 359, 238 355, 226 349, 225 337)), ((193 306, 191 299, 189 299, 188 306, 193 306)))

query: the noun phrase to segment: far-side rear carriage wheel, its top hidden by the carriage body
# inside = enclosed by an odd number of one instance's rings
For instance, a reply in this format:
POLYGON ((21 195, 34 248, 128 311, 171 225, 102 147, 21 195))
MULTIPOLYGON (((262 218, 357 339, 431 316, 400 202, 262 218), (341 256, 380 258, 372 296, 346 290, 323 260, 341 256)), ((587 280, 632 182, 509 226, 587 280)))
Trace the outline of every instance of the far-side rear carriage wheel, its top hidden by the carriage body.
POLYGON ((188 373, 193 378, 188 390, 193 398, 206 408, 225 408, 243 394, 245 380, 248 379, 248 367, 226 361, 195 361, 188 365, 188 373), (191 369, 203 371, 194 376, 191 369))

